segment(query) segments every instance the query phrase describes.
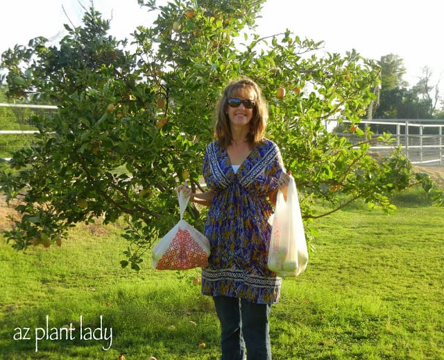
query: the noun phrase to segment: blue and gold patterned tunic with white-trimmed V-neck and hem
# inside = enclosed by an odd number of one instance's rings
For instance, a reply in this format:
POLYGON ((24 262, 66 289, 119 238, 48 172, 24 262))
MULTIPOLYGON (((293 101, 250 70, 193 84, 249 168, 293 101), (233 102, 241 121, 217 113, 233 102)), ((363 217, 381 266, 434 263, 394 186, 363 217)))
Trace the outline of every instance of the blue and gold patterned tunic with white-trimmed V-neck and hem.
POLYGON ((277 188, 283 171, 280 151, 271 140, 262 140, 236 173, 218 142, 207 146, 203 177, 214 197, 205 223, 211 254, 202 270, 204 295, 278 302, 282 279, 266 265, 273 213, 268 193, 277 188))

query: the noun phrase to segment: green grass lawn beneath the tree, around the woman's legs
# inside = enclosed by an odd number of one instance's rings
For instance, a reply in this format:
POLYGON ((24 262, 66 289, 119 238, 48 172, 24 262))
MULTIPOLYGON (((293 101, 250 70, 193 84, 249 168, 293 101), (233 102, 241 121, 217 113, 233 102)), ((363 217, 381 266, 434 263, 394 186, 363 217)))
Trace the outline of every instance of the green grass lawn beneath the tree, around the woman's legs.
MULTIPOLYGON (((317 220, 316 254, 271 312, 273 359, 444 359, 444 208, 397 202, 389 216, 358 204, 317 220)), ((115 226, 26 252, 1 240, 0 359, 219 359, 199 271, 160 272, 149 257, 122 270, 125 248, 115 226), (82 338, 60 330, 80 317, 82 338)))

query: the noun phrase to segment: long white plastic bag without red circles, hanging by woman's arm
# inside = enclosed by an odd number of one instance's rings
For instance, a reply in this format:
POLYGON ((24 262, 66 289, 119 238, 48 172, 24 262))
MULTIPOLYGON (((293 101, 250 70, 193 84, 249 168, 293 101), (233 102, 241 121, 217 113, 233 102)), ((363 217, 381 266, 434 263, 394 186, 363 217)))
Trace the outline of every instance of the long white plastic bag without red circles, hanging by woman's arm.
POLYGON ((278 190, 272 225, 268 268, 279 277, 296 277, 307 268, 308 249, 300 213, 298 190, 293 177, 287 189, 287 202, 278 190))

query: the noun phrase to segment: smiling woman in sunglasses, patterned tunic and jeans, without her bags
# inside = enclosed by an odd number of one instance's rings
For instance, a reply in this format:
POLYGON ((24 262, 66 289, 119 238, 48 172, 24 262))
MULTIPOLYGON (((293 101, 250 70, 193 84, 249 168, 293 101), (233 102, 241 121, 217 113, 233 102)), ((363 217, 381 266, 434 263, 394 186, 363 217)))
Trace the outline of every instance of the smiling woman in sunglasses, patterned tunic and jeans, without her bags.
POLYGON ((278 188, 287 192, 280 151, 264 138, 268 111, 250 79, 228 84, 219 100, 214 134, 203 162, 206 193, 183 190, 210 206, 205 235, 211 254, 202 269, 202 292, 214 299, 221 322, 221 359, 271 359, 268 316, 281 281, 267 267, 268 218, 278 188))

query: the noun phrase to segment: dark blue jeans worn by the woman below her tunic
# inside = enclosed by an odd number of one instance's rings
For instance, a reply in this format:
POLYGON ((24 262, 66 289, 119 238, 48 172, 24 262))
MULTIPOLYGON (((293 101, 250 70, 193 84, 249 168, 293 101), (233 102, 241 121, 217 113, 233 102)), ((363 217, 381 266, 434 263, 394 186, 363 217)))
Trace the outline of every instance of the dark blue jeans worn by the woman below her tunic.
POLYGON ((268 316, 271 305, 253 304, 238 297, 215 296, 221 322, 221 360, 271 360, 268 316))

